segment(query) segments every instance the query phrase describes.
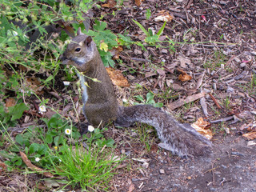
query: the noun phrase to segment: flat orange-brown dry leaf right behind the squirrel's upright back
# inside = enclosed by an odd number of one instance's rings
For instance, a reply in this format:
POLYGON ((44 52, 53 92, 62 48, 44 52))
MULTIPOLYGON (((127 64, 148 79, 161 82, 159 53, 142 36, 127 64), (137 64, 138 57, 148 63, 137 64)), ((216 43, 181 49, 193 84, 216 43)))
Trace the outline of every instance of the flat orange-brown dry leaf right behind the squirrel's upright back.
POLYGON ((122 72, 120 70, 114 70, 112 67, 107 67, 106 71, 115 86, 130 86, 129 82, 122 75, 122 72))

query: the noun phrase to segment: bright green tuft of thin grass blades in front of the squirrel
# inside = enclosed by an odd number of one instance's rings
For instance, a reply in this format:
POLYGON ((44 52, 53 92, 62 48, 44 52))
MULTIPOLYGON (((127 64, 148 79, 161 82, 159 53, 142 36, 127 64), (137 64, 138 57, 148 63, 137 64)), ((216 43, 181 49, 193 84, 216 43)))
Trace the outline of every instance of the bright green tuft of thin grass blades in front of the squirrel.
MULTIPOLYGON (((82 145, 62 146, 56 155, 59 162, 52 162, 52 173, 65 177, 66 186, 82 190, 108 191, 114 169, 121 161, 109 149, 82 145)), ((64 188, 64 187, 63 187, 64 188)))

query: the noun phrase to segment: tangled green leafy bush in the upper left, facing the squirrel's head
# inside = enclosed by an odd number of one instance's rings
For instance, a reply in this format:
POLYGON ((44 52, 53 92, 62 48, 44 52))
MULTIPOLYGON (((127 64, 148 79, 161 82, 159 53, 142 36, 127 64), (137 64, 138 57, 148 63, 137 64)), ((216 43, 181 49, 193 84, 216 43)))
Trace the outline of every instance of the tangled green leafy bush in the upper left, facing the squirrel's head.
POLYGON ((54 82, 59 69, 58 58, 68 38, 64 30, 72 34, 70 23, 75 26, 77 20, 86 20, 83 14, 93 5, 92 0, 69 3, 3 0, 0 10, 0 94, 6 94, 2 91, 6 89, 14 90, 17 98, 30 96, 31 91, 21 88, 21 82, 30 71, 43 73, 47 70, 49 76, 41 79, 42 83, 49 86, 54 82), (53 40, 49 37, 50 29, 54 27, 62 29, 62 33, 53 40), (26 70, 21 73, 22 67, 26 70), (6 73, 8 68, 12 74, 6 73))

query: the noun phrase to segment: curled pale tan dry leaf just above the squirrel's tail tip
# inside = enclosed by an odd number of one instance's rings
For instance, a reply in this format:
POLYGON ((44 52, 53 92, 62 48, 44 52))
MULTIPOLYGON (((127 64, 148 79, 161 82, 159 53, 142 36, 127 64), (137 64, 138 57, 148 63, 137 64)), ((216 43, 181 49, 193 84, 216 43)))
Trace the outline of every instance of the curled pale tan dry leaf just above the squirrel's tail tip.
POLYGON ((213 133, 208 129, 210 127, 210 122, 204 121, 203 118, 198 118, 198 120, 191 124, 191 126, 206 138, 213 138, 213 133))

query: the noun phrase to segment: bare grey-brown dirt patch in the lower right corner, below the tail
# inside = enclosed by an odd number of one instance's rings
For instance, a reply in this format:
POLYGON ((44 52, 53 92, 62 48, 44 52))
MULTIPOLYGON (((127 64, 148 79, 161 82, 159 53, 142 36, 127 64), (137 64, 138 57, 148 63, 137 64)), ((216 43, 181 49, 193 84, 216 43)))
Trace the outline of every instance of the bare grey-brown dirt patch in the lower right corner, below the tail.
MULTIPOLYGON (((148 179, 134 180, 134 191, 255 191, 255 147, 241 138, 215 143, 211 158, 168 162, 166 156, 150 162, 148 179), (160 174, 160 170, 164 170, 160 174)), ((118 190, 126 191, 126 190, 118 190)))

